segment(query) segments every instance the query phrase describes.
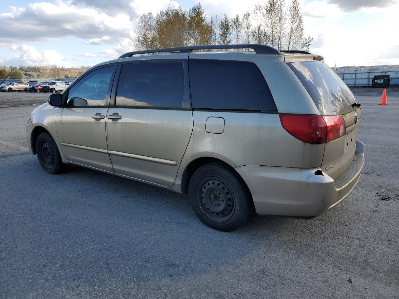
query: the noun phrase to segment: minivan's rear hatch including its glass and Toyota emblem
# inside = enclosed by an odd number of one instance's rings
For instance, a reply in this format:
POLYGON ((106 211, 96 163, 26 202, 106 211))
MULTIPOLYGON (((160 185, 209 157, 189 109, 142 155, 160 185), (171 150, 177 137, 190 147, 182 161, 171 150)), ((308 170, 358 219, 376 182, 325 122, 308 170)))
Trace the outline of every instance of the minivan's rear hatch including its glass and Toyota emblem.
POLYGON ((352 91, 323 62, 322 57, 300 55, 300 59, 299 55, 293 56, 294 59, 286 59, 286 62, 308 91, 320 114, 342 116, 345 121, 346 133, 326 143, 321 165, 322 171, 336 179, 354 159, 361 118, 360 106, 352 91))

